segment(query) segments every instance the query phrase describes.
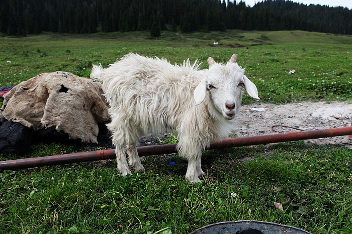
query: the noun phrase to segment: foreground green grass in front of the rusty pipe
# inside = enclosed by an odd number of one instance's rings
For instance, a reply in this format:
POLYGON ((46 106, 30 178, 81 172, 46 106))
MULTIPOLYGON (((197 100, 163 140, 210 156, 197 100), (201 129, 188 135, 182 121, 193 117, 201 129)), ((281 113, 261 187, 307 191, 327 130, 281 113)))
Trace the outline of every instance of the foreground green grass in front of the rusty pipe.
POLYGON ((146 157, 146 172, 124 178, 115 160, 6 170, 0 173, 0 225, 9 233, 147 233, 165 227, 188 233, 209 223, 255 219, 348 233, 350 154, 304 143, 207 151, 206 176, 196 185, 185 181, 187 163, 178 156, 170 159, 173 166, 146 157), (255 159, 242 161, 244 155, 255 159))

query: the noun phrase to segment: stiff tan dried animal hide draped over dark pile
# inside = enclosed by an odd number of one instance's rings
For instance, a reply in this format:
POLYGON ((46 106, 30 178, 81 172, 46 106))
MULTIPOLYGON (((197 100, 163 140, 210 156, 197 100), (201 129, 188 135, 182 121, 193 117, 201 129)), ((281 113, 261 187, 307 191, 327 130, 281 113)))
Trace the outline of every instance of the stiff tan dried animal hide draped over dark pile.
POLYGON ((4 96, 0 117, 39 130, 55 126, 71 139, 98 143, 98 123, 109 120, 99 82, 69 72, 37 75, 4 96))

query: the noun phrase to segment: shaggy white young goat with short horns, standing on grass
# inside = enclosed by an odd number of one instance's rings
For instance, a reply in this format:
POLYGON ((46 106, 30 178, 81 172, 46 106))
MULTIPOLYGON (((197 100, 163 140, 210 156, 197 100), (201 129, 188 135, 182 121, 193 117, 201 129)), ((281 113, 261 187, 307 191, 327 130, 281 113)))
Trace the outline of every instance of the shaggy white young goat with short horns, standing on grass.
POLYGON ((126 161, 136 171, 144 170, 136 149, 140 136, 173 132, 178 135, 177 150, 188 160, 186 178, 201 182, 202 151, 211 141, 227 138, 242 99, 242 86, 259 99, 255 85, 232 55, 226 65, 208 58, 209 69, 191 65, 171 65, 165 59, 127 54, 109 68, 93 66, 91 78, 103 82, 110 108, 117 167, 131 174, 126 161))

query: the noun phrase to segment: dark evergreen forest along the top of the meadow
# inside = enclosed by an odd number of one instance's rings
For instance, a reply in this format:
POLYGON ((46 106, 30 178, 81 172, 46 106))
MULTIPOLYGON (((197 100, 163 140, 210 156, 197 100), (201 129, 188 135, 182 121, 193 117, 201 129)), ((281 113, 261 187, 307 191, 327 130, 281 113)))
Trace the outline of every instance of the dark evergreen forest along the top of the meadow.
POLYGON ((352 34, 352 10, 265 0, 2 0, 0 32, 304 30, 352 34))

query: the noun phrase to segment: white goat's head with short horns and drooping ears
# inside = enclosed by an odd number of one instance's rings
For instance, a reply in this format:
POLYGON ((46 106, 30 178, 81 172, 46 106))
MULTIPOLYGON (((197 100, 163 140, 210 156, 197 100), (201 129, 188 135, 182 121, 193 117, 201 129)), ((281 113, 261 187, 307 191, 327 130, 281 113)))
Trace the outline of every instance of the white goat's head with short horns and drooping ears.
POLYGON ((202 103, 209 91, 213 107, 225 119, 232 120, 240 107, 243 86, 249 96, 259 99, 255 84, 244 75, 244 69, 237 64, 237 54, 233 54, 226 65, 216 63, 211 57, 208 58, 208 64, 207 76, 194 90, 196 105, 202 103))

